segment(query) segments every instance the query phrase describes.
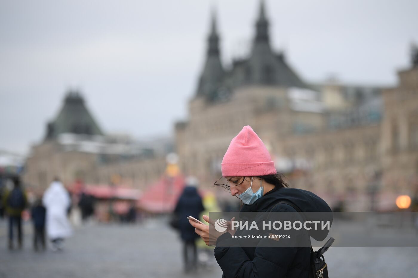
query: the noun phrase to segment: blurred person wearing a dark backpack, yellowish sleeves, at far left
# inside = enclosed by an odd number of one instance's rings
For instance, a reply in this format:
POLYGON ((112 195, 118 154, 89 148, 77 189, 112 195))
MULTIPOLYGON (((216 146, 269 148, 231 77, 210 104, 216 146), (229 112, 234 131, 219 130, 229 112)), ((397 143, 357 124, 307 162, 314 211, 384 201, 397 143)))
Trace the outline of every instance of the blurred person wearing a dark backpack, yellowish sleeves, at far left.
POLYGON ((3 206, 9 216, 9 249, 13 249, 13 230, 14 227, 18 229, 18 246, 22 248, 22 212, 28 204, 28 198, 26 192, 23 190, 20 184, 20 178, 15 176, 13 180, 13 189, 6 190, 3 196, 3 206))

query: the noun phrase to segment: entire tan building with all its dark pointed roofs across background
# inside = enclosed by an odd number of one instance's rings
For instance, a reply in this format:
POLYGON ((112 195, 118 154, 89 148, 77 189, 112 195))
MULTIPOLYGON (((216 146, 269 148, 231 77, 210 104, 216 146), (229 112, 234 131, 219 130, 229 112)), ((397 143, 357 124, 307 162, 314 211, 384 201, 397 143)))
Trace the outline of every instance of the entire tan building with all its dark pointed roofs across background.
POLYGON ((331 204, 344 196, 364 210, 382 192, 413 194, 418 184, 418 51, 413 51, 412 67, 398 73, 395 88, 335 79, 308 83, 284 53, 271 48, 263 2, 257 17, 250 55, 227 68, 212 15, 189 119, 176 123, 175 142, 105 134, 82 96, 69 92, 44 140, 33 146, 24 182, 44 189, 59 176, 65 184, 82 179, 145 189, 165 172, 166 154, 175 149, 181 172, 210 187, 222 176, 231 139, 250 125, 292 187, 328 196, 331 204))

